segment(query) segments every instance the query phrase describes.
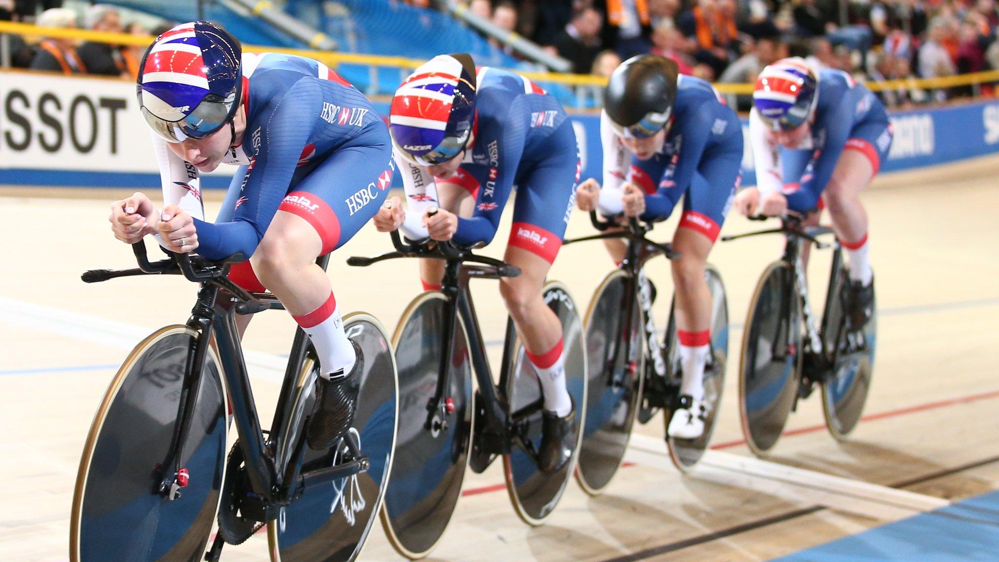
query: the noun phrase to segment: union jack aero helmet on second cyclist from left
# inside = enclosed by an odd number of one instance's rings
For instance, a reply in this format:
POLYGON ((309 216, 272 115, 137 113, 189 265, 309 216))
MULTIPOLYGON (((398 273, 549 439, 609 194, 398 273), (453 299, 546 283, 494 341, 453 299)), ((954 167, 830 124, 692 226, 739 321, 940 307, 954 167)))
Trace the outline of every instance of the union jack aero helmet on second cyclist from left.
POLYGON ((458 156, 469 142, 476 113, 476 65, 466 53, 438 55, 396 90, 389 130, 396 149, 418 166, 458 156))

